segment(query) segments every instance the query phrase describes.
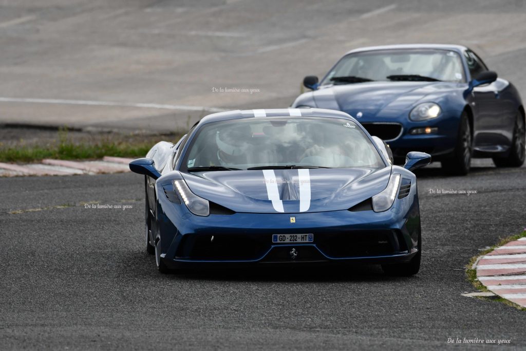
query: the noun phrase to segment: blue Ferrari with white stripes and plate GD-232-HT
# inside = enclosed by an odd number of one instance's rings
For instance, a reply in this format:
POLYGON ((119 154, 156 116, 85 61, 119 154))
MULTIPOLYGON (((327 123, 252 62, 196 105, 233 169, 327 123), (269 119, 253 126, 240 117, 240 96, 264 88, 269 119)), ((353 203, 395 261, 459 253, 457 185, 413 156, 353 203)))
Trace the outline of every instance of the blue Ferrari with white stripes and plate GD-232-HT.
POLYGON ((381 264, 418 272, 417 179, 346 113, 255 109, 204 117, 129 164, 145 175, 145 243, 160 272, 203 265, 381 264))

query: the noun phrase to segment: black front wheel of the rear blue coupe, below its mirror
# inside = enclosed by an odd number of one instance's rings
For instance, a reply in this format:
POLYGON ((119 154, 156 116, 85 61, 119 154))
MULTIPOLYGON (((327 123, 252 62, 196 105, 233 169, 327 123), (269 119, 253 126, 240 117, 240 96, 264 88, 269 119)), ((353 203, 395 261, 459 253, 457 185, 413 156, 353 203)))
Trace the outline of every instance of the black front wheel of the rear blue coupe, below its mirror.
POLYGON ((471 137, 471 126, 466 111, 460 116, 459 133, 457 145, 453 156, 444 159, 442 168, 451 175, 466 175, 471 165, 471 154, 473 153, 473 142, 471 137))

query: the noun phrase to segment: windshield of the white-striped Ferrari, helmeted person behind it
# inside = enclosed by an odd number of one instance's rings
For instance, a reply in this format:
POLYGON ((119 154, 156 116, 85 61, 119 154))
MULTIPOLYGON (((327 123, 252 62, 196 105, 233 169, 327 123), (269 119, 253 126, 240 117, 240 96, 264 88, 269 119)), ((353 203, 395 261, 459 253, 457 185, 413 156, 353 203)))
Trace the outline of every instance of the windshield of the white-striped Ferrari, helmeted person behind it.
POLYGON ((204 125, 183 158, 189 172, 301 167, 385 167, 348 119, 255 117, 204 125))

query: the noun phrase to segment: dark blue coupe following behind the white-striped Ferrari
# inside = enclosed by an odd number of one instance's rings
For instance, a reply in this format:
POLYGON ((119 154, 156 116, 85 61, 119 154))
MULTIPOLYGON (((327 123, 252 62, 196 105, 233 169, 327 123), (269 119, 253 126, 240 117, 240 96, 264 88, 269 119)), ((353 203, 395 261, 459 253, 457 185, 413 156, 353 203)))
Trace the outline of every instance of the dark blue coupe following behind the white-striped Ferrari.
POLYGON ((355 117, 386 141, 395 163, 409 151, 441 161, 450 174, 469 172, 472 157, 520 167, 524 106, 510 82, 459 45, 390 45, 348 52, 292 107, 329 108, 355 117))

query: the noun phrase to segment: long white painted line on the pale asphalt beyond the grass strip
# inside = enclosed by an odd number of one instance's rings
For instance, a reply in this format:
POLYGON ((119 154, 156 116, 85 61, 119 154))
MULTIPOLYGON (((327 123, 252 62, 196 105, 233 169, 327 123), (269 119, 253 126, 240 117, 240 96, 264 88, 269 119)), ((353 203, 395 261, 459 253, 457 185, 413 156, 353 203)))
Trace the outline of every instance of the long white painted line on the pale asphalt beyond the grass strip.
POLYGON ((56 105, 85 105, 85 106, 117 106, 117 107, 141 107, 141 108, 160 108, 184 111, 209 111, 224 112, 228 111, 220 107, 190 106, 190 105, 168 105, 151 103, 120 103, 114 101, 94 101, 94 100, 69 100, 69 99, 41 99, 33 97, 0 97, 0 102, 4 103, 34 103, 34 104, 56 104, 56 105))

